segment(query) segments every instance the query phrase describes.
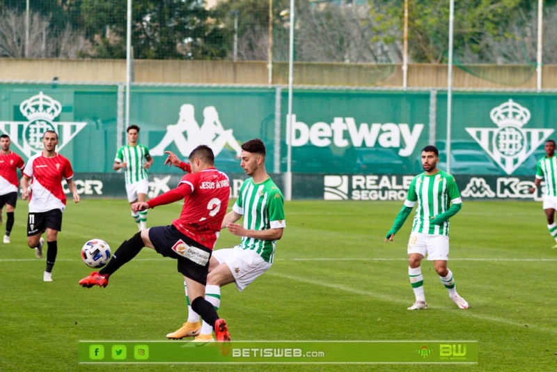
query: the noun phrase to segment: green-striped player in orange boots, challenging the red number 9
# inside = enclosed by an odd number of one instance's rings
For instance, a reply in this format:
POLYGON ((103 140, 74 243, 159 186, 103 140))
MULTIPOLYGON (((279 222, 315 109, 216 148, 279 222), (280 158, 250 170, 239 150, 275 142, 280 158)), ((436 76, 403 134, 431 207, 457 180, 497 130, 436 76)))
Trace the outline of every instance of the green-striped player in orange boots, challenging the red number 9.
MULTIPOLYGON (((240 187, 240 196, 233 209, 223 219, 222 228, 242 237, 240 245, 228 249, 217 249, 211 256, 205 298, 215 309, 221 304, 221 286, 235 283, 237 290, 244 290, 261 274, 269 270, 273 263, 276 240, 281 239, 286 226, 284 198, 265 170, 265 145, 260 139, 252 139, 242 144, 240 166, 248 178, 240 187), (235 224, 244 216, 243 225, 235 224)), ((188 164, 180 162, 173 153, 168 153, 165 162, 187 171, 188 164)), ((203 326, 198 313, 189 306, 191 292, 185 282, 187 322, 179 330, 167 334, 168 339, 182 339, 196 336, 195 342, 213 341, 211 323, 203 326)))

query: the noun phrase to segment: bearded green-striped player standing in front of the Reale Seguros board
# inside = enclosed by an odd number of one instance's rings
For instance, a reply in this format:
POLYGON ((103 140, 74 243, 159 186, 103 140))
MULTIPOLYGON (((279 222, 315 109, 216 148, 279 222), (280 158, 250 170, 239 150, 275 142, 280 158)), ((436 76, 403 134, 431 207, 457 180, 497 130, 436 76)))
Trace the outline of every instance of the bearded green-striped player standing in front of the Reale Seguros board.
POLYGON ((448 219, 462 208, 460 192, 455 178, 437 169, 439 150, 435 146, 423 148, 421 161, 424 172, 412 179, 404 206, 398 212, 385 242, 393 240, 417 201, 418 209, 408 240, 408 276, 416 302, 408 310, 427 309, 421 271, 421 261, 425 256, 428 261, 433 261, 435 271, 447 288, 450 299, 460 309, 468 309, 468 302, 457 293, 453 272, 447 268, 448 219))

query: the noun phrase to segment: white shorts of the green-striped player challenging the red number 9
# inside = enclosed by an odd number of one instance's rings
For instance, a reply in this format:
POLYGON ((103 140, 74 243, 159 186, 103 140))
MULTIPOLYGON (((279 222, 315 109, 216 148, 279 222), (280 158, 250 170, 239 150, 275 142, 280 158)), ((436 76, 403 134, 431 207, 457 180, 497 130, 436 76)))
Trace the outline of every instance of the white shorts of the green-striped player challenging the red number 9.
POLYGON ((272 266, 272 263, 265 262, 256 251, 242 249, 239 245, 234 248, 217 249, 213 251, 212 256, 219 263, 226 263, 228 265, 238 290, 244 290, 246 286, 272 266))

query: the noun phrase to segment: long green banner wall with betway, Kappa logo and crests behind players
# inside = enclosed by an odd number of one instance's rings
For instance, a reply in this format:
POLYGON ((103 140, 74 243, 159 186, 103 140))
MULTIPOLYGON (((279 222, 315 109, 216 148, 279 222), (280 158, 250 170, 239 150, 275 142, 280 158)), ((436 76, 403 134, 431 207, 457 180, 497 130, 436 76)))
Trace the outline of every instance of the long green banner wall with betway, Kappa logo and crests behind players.
MULTIPOLYGON (((119 197, 123 191, 113 182, 123 175, 112 166, 127 141, 124 93, 116 84, 3 84, 0 132, 10 135, 12 150, 27 160, 42 149, 42 133, 56 130, 57 150, 74 171, 107 180, 105 191, 114 188, 91 196, 119 197)), ((242 180, 240 144, 260 138, 267 147, 267 170, 278 182, 290 164, 293 199, 336 193, 340 199, 375 200, 374 182, 389 199, 400 199, 405 180, 422 171, 420 154, 427 144, 439 148, 439 168, 450 165, 463 189, 471 182, 485 189, 485 182, 492 190, 470 197, 522 198, 520 185, 514 192, 497 190, 508 190, 501 185, 511 185, 513 178, 533 179, 544 141, 554 136, 556 99, 549 93, 454 92, 450 159, 446 91, 297 88, 288 138, 288 91, 282 87, 137 84, 130 91, 130 123, 141 127, 139 142, 155 160, 152 182, 166 183, 154 187, 154 195, 173 187, 182 174, 164 166, 164 151, 186 159, 195 146, 207 144, 217 168, 242 180)))

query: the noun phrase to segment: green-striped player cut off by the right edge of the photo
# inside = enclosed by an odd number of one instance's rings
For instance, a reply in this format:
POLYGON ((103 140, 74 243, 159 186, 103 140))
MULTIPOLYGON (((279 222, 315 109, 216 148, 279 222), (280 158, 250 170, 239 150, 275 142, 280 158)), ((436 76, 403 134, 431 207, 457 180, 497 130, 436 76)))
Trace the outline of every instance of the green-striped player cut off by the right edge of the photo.
POLYGON ((547 218, 547 228, 555 239, 557 248, 557 224, 555 224, 555 211, 557 210, 557 158, 555 157, 555 141, 548 139, 545 141, 545 156, 538 160, 535 170, 534 187, 530 187, 530 192, 540 186, 545 180, 545 192, 542 208, 544 208, 547 218))

